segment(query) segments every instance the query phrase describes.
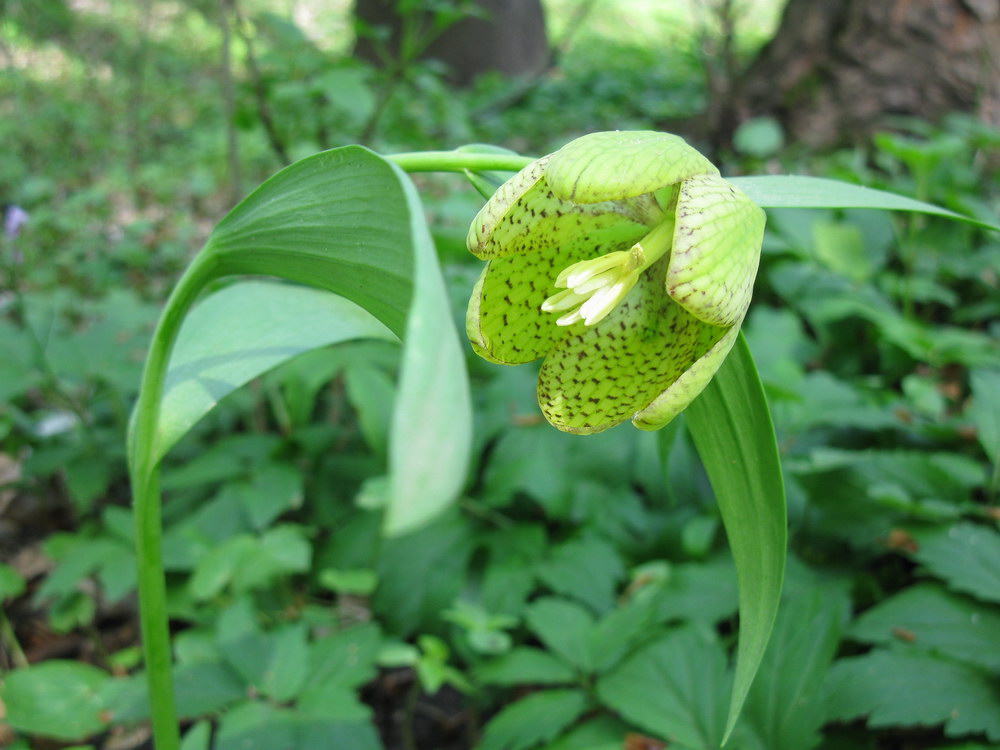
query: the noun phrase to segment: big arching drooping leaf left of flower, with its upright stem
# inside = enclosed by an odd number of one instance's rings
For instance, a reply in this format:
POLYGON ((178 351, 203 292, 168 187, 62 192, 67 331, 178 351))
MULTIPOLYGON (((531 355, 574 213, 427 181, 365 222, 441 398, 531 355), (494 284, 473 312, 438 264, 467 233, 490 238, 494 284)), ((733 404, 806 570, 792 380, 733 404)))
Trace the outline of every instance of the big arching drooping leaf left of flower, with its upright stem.
MULTIPOLYGON (((335 292, 404 339, 402 385, 395 404, 398 429, 389 451, 386 518, 392 532, 419 525, 453 500, 465 479, 469 455, 468 376, 443 301, 443 281, 422 207, 409 179, 396 165, 357 146, 317 154, 283 169, 223 219, 171 293, 153 337, 129 430, 140 617, 153 734, 160 750, 180 745, 158 471, 164 452, 160 418, 167 373, 184 318, 198 295, 214 279, 234 275, 276 276, 335 292), (435 446, 444 450, 427 460, 435 446)), ((289 336, 294 334, 289 331, 289 336)), ((229 354, 236 356, 232 350, 229 354)), ((280 356, 272 362, 278 360, 280 356)), ((245 371, 235 380, 244 377, 245 371)), ((177 382, 184 380, 178 377, 177 382)), ((195 411, 170 428, 170 440, 190 428, 195 411)))

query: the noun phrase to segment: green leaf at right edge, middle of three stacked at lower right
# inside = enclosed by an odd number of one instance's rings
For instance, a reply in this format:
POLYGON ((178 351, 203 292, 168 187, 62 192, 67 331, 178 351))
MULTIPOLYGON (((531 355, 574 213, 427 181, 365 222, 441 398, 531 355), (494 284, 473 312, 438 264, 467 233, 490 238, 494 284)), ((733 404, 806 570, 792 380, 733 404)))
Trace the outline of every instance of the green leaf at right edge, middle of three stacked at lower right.
POLYGON ((848 634, 865 643, 895 643, 1000 669, 1000 612, 935 584, 911 586, 880 602, 848 634))

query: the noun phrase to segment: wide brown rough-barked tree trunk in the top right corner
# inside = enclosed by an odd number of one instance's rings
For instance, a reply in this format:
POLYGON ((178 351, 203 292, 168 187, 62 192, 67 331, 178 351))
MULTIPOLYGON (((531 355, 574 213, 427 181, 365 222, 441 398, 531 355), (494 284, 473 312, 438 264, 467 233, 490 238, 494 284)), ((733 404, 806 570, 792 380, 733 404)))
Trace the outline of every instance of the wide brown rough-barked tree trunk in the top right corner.
POLYGON ((769 114, 811 146, 859 140, 886 115, 1000 125, 1000 2, 789 0, 736 91, 728 134, 769 114))

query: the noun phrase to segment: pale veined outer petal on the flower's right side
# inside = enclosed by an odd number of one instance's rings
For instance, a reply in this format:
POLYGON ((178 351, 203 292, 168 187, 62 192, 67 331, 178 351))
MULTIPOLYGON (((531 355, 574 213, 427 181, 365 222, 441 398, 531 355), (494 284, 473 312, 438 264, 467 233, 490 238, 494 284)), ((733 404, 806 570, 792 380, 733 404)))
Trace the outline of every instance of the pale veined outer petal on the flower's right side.
POLYGON ((714 175, 692 177, 677 197, 667 293, 706 323, 732 326, 750 304, 764 211, 714 175))

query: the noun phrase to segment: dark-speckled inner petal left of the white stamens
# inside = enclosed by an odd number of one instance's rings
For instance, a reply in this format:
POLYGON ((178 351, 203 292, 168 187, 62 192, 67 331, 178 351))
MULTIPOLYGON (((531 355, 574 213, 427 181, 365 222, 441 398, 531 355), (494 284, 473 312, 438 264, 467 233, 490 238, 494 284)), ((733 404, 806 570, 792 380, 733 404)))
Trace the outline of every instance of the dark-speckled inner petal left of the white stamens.
POLYGON ((556 325, 559 316, 544 312, 542 303, 556 292, 555 279, 564 266, 601 252, 579 241, 490 260, 472 290, 465 316, 465 331, 476 353, 506 365, 548 354, 566 336, 566 328, 556 325))

